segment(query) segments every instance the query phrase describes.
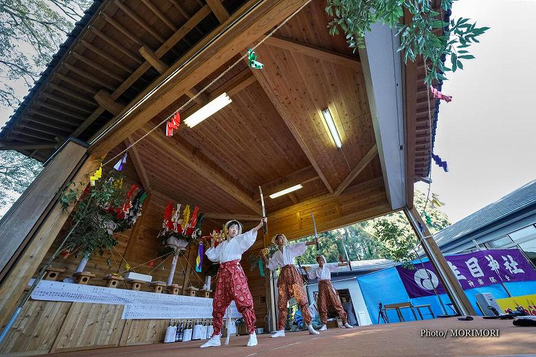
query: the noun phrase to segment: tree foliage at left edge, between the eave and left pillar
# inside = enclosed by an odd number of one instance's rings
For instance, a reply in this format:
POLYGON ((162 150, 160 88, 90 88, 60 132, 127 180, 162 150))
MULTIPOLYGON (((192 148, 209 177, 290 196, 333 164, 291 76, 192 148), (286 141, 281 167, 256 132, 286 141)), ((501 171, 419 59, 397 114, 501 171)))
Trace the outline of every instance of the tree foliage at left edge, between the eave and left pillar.
POLYGON ((38 161, 16 151, 0 151, 0 209, 11 205, 40 171, 38 161))

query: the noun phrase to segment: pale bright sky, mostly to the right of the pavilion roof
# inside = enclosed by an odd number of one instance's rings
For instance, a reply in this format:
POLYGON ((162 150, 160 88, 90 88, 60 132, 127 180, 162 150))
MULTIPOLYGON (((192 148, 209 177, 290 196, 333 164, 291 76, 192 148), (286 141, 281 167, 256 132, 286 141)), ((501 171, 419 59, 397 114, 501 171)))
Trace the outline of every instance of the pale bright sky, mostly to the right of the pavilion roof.
MULTIPOLYGON (((460 0, 452 10, 491 27, 470 47, 476 59, 443 85, 454 98, 440 106, 434 151, 449 172, 432 165, 432 192, 454 223, 536 179, 536 0, 460 0)), ((27 93, 21 82, 14 87, 27 93)), ((11 114, 0 112, 0 126, 11 114)))

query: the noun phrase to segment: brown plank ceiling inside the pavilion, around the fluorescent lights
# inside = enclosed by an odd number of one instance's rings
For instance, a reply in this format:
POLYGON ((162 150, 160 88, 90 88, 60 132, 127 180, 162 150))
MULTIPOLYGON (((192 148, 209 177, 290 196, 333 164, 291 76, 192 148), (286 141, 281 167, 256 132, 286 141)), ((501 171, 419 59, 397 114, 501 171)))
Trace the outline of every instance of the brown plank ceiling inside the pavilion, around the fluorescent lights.
MULTIPOLYGON (((304 188, 266 197, 270 212, 375 180, 381 167, 359 56, 342 36, 330 36, 322 1, 306 6, 274 38, 257 47, 264 69, 240 63, 181 112, 229 93, 232 103, 173 137, 164 126, 141 141, 151 187, 211 214, 258 216, 258 186, 265 196, 302 183, 304 188), (322 116, 329 108, 342 139, 337 149, 322 116), (238 197, 236 193, 238 192, 238 197), (248 204, 247 200, 252 203, 248 204)), ((238 55, 193 87, 197 93, 238 55)), ((183 95, 138 130, 141 137, 188 100, 183 95)))

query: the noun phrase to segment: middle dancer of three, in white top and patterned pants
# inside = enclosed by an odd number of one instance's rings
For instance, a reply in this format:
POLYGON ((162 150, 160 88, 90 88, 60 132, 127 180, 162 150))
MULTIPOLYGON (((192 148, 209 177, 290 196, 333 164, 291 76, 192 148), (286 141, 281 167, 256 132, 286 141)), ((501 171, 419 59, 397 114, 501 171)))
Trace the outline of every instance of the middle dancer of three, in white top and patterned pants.
POLYGON ((276 270, 278 267, 281 267, 281 273, 278 278, 278 331, 275 334, 272 334, 271 337, 284 336, 284 325, 287 323, 287 303, 291 297, 295 297, 296 301, 298 301, 309 333, 319 333, 313 329, 313 325, 311 325, 309 301, 307 301, 305 295, 302 277, 294 265, 294 258, 302 255, 305 252, 306 246, 316 244, 316 242, 317 238, 310 242, 300 242, 287 246, 287 238, 284 234, 279 233, 272 238, 272 243, 277 244, 279 248, 276 253, 273 253, 273 256, 268 259, 268 257, 261 252, 260 256, 263 257, 267 268, 276 270))

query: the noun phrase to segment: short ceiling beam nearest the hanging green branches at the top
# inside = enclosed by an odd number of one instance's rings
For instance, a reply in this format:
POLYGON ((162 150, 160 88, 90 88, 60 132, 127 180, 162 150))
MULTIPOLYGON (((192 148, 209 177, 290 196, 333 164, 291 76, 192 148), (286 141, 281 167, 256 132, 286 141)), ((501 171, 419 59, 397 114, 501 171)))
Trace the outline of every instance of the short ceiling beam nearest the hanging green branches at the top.
POLYGON ((359 61, 359 58, 348 56, 346 54, 341 54, 339 52, 332 51, 331 49, 325 49, 322 47, 309 45, 309 43, 291 40, 290 38, 270 36, 265 41, 265 44, 271 45, 273 47, 279 47, 281 49, 287 49, 288 51, 304 54, 306 56, 318 58, 320 60, 333 62, 337 65, 345 65, 352 68, 361 67, 361 62, 359 61))

